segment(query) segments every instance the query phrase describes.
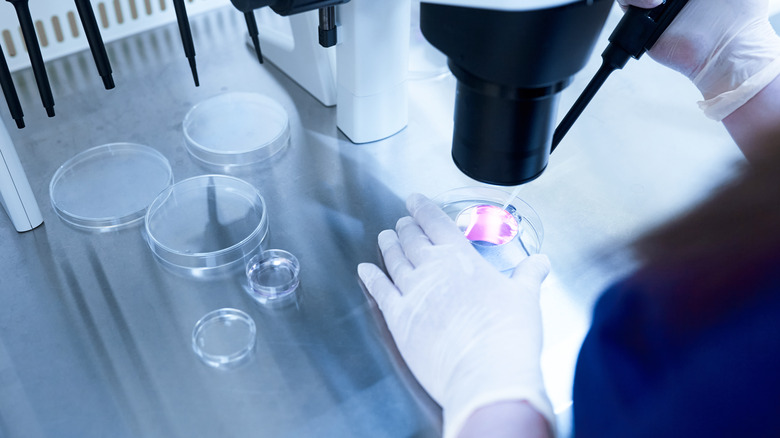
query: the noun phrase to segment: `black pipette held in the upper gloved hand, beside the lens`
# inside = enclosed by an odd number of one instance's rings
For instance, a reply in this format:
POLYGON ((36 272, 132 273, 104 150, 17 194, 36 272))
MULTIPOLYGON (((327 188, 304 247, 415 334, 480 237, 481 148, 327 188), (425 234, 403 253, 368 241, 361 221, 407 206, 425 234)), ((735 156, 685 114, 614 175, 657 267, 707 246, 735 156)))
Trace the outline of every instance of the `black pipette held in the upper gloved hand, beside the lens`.
POLYGON ((555 129, 551 152, 555 150, 563 136, 569 132, 569 129, 609 75, 613 71, 625 67, 630 58, 639 59, 646 51, 650 50, 687 3, 688 0, 666 0, 664 4, 653 9, 642 9, 634 6, 628 8, 609 36, 609 45, 601 54, 601 67, 555 129))

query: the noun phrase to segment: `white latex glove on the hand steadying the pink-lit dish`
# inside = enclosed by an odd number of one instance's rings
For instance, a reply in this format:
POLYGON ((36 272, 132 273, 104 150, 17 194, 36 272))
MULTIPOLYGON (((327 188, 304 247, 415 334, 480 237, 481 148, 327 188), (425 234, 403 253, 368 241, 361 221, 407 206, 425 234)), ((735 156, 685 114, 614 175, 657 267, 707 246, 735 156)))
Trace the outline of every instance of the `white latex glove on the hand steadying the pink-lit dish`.
POLYGON ((409 369, 443 408, 444 436, 477 408, 507 400, 527 401, 552 428, 539 364, 549 260, 528 257, 507 277, 428 198, 412 195, 407 209, 412 217, 379 234, 392 280, 369 263, 358 274, 409 369))

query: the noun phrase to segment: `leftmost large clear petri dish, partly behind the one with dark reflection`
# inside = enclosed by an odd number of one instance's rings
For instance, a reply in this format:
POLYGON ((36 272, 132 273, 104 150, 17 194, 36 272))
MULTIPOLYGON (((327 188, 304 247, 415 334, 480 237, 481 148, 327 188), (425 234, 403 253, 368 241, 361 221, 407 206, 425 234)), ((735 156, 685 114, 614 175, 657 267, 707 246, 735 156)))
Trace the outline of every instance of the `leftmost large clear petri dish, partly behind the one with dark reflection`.
POLYGON ((77 228, 119 229, 143 220, 149 204, 172 183, 170 163, 156 150, 111 143, 60 166, 49 196, 57 215, 77 228))

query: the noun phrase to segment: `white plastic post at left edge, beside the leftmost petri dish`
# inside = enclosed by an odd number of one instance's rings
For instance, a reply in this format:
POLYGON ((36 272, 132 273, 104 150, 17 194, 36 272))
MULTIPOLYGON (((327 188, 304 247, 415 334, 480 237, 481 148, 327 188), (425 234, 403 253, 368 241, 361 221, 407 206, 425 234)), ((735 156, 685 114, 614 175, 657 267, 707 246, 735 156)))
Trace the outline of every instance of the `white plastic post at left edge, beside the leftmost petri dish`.
POLYGON ((43 223, 30 182, 5 124, 0 122, 0 201, 18 232, 43 223))

